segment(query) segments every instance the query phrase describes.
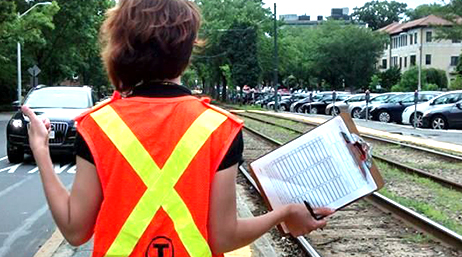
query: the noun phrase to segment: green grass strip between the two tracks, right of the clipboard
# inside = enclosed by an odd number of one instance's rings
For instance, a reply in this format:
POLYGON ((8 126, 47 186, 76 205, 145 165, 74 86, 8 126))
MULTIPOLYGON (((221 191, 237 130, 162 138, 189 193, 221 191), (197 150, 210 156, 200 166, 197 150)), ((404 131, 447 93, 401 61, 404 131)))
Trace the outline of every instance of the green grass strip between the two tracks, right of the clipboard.
POLYGON ((410 186, 412 184, 412 186, 422 188, 426 192, 431 192, 432 199, 428 201, 426 199, 415 199, 413 197, 397 195, 389 191, 386 186, 380 190, 381 194, 417 211, 458 234, 462 234, 462 222, 454 218, 462 215, 462 193, 445 188, 429 179, 401 172, 387 164, 380 162, 377 164, 386 181, 397 181, 410 186))

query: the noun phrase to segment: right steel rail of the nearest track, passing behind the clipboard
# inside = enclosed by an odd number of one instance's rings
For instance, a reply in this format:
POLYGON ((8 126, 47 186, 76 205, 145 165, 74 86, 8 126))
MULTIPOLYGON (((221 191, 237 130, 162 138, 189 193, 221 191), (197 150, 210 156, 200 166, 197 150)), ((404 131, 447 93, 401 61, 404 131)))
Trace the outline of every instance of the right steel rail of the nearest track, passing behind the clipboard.
MULTIPOLYGON (((269 141, 268 139, 270 137, 256 130, 252 129, 252 133, 260 136, 264 140, 269 141)), ((274 139, 269 142, 275 144, 275 146, 282 145, 280 143, 277 143, 278 141, 274 139)), ((378 208, 380 208, 381 210, 391 212, 393 215, 399 217, 408 224, 411 224, 416 229, 434 236, 438 241, 446 245, 452 246, 456 249, 462 250, 462 236, 457 234, 456 232, 430 220, 429 218, 421 214, 418 214, 417 212, 410 210, 409 208, 399 203, 394 202, 391 199, 388 199, 387 197, 377 192, 369 195, 368 197, 366 197, 366 199, 378 208)))

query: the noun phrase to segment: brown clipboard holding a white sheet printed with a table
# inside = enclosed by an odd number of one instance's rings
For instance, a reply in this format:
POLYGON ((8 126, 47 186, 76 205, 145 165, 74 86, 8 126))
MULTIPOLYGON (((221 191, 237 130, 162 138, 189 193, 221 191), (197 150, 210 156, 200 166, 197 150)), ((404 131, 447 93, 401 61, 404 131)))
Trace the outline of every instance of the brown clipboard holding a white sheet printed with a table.
MULTIPOLYGON (((288 203, 339 210, 384 186, 371 151, 342 113, 249 166, 270 210, 288 203)), ((278 229, 289 233, 284 224, 278 229)))

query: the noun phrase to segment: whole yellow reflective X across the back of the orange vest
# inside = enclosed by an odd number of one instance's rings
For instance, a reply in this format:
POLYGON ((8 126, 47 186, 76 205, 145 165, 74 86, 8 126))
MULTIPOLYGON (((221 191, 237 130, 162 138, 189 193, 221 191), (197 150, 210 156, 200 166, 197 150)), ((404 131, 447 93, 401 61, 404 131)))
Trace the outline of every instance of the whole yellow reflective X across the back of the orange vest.
POLYGON ((105 256, 130 255, 160 207, 173 221, 191 257, 212 256, 207 241, 174 186, 210 135, 227 117, 210 109, 202 113, 182 136, 162 169, 111 106, 92 113, 91 117, 147 187, 105 256))

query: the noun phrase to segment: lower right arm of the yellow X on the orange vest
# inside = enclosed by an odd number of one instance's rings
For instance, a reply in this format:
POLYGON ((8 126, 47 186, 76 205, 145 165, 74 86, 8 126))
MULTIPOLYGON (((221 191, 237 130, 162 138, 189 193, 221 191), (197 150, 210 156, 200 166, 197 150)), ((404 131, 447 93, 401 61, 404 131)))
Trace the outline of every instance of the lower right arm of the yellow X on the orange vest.
POLYGON ((190 256, 212 256, 210 247, 197 228, 188 207, 175 190, 170 194, 169 199, 166 199, 162 207, 172 219, 175 231, 190 256))

